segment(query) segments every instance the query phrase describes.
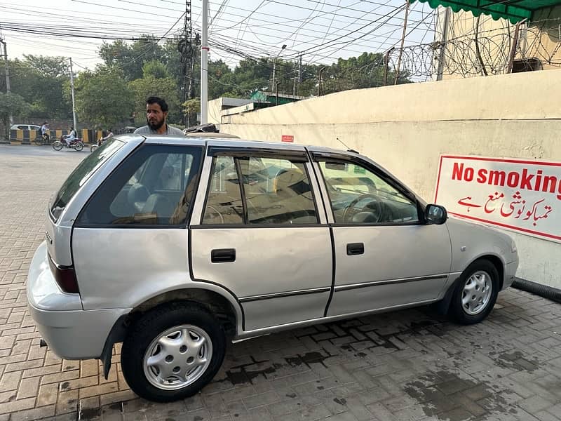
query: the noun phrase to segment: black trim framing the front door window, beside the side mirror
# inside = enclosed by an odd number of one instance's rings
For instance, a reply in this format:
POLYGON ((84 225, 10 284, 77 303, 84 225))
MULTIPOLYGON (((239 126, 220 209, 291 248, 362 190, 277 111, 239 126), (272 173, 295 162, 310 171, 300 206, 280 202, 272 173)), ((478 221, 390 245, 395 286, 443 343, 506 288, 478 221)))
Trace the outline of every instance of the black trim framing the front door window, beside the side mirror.
POLYGON ((406 227, 412 225, 425 225, 424 218, 423 218, 423 207, 421 203, 417 199, 417 196, 405 187, 402 182, 400 182, 397 178, 385 173, 377 166, 373 166, 370 162, 365 161, 364 159, 360 159, 358 156, 346 155, 346 154, 337 154, 333 152, 311 152, 311 156, 313 162, 318 163, 318 171, 320 172, 320 177, 323 181, 323 186, 325 192, 327 194, 327 201, 331 211, 331 215, 333 217, 332 225, 333 227, 406 227), (340 163, 353 163, 355 165, 361 166, 366 168, 370 173, 373 173, 377 177, 379 177, 382 181, 386 182, 388 185, 393 187, 394 189, 398 190, 405 198, 412 201, 412 204, 417 208, 417 221, 414 222, 336 222, 335 220, 335 213, 333 211, 333 204, 331 201, 331 196, 329 193, 329 189, 327 188, 327 182, 325 180, 325 175, 320 167, 320 162, 340 162, 340 163))

